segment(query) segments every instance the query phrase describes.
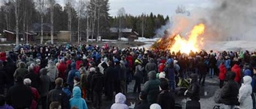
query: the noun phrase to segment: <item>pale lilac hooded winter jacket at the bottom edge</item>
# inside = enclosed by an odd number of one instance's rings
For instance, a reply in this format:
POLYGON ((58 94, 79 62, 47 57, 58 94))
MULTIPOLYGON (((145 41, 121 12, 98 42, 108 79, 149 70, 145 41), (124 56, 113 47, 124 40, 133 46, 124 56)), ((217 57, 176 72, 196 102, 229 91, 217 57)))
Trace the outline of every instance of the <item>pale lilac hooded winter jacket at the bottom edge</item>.
POLYGON ((110 107, 110 109, 129 109, 126 105, 126 95, 122 93, 118 93, 115 95, 114 104, 110 107))

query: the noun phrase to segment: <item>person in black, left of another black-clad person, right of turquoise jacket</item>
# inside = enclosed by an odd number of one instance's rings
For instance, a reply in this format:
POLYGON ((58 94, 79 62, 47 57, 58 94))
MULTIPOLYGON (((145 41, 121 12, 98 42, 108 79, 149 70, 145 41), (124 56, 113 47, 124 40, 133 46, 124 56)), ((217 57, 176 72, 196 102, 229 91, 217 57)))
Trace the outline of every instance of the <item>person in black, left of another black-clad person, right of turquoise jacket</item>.
POLYGON ((96 67, 95 69, 96 72, 92 76, 91 80, 91 88, 94 95, 94 107, 100 108, 102 106, 102 89, 104 84, 104 75, 100 72, 100 69, 98 67, 96 67))

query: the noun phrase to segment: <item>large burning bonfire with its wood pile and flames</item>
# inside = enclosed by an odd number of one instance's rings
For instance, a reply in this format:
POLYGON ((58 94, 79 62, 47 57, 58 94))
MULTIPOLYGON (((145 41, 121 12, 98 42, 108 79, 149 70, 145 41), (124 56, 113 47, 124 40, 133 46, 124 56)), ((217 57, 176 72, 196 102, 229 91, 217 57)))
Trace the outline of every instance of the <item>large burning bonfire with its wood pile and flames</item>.
POLYGON ((188 36, 182 37, 180 33, 175 33, 174 35, 166 35, 156 41, 151 49, 162 49, 170 50, 174 53, 186 53, 199 52, 203 45, 202 34, 205 31, 205 25, 199 24, 195 25, 194 28, 188 33, 188 36))

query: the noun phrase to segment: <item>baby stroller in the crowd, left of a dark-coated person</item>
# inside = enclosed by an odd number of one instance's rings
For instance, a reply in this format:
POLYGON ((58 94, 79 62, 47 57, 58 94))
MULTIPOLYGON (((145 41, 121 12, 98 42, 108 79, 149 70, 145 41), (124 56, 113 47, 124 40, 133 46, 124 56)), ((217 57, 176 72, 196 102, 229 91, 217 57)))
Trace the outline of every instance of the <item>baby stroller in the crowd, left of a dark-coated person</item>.
POLYGON ((184 95, 184 92, 190 88, 190 82, 189 80, 186 80, 182 77, 178 77, 178 88, 177 95, 184 95))

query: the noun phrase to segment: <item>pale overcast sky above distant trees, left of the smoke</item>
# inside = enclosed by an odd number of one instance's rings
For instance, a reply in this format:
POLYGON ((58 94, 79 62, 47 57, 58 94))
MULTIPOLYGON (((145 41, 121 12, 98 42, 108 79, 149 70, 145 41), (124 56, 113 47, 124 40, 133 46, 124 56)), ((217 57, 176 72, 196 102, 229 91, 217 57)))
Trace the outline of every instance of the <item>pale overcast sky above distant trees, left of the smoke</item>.
POLYGON ((118 9, 124 7, 126 14, 139 15, 142 13, 173 15, 178 6, 186 6, 191 10, 197 6, 207 6, 209 0, 110 0, 110 15, 117 15, 118 9))

